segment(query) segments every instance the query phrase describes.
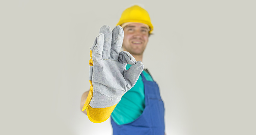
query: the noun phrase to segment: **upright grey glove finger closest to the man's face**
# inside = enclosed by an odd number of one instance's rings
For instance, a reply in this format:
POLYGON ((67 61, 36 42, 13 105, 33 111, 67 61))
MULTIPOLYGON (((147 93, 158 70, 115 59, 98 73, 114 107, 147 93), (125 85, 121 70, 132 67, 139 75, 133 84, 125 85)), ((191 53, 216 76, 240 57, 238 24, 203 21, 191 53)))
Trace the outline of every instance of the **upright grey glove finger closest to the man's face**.
POLYGON ((121 26, 116 26, 113 29, 112 44, 110 50, 111 60, 117 60, 119 57, 119 52, 123 44, 123 34, 123 28, 121 26))

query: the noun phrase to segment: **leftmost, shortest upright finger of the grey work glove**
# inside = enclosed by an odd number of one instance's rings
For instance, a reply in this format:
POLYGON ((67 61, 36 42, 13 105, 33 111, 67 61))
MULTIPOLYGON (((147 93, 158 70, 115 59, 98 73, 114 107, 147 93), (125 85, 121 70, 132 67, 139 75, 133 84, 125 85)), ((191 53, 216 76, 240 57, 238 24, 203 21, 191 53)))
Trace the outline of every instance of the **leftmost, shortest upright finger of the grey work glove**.
POLYGON ((102 58, 102 50, 104 44, 104 35, 100 33, 97 37, 97 43, 92 49, 92 61, 100 60, 102 58))

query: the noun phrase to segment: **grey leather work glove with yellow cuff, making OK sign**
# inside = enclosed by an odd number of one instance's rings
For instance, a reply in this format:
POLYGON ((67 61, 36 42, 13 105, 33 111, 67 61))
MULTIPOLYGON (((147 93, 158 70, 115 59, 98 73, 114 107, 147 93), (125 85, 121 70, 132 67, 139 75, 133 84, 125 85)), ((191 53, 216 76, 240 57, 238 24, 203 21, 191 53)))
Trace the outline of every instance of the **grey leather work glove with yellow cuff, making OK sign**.
POLYGON ((89 95, 83 106, 88 118, 94 123, 109 118, 125 92, 132 88, 143 70, 141 61, 126 51, 120 52, 123 44, 123 29, 102 26, 90 50, 89 95), (126 70, 126 64, 132 64, 126 70))

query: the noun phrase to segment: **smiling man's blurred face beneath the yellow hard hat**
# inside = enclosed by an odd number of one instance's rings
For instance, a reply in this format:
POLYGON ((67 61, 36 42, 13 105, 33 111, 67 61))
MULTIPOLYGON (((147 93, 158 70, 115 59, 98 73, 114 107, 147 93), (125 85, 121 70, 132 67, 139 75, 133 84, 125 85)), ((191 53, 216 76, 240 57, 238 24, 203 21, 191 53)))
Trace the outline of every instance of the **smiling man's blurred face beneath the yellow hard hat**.
POLYGON ((142 55, 148 43, 148 29, 141 23, 124 27, 123 50, 132 55, 142 55))

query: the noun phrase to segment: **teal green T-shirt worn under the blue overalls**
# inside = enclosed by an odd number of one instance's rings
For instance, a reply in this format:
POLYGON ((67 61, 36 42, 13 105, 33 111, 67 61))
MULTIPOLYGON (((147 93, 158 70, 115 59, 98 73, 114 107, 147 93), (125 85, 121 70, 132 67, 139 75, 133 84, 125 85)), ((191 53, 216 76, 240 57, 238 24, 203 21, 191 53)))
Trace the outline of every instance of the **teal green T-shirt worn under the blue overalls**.
MULTIPOLYGON (((126 70, 128 70, 131 65, 126 65, 126 70)), ((142 71, 145 79, 147 81, 153 81, 147 71, 142 71)), ((121 101, 117 104, 111 117, 117 125, 127 124, 133 122, 137 119, 143 112, 145 108, 145 94, 144 94, 144 84, 142 81, 142 76, 139 76, 136 84, 127 91, 121 98, 121 101)))

